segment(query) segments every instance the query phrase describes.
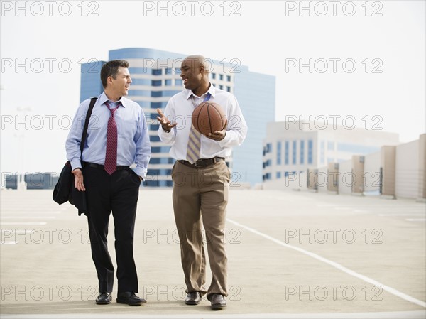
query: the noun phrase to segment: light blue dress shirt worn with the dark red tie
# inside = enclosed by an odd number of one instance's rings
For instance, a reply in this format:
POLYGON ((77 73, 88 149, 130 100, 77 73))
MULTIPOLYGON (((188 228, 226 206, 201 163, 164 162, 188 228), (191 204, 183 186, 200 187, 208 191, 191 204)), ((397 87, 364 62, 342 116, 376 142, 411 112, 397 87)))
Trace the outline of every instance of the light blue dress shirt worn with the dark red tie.
MULTIPOLYGON (((87 139, 81 156, 82 161, 104 165, 107 148, 107 126, 111 115, 105 102, 109 101, 105 92, 99 95, 93 107, 92 116, 87 129, 87 139)), ((121 104, 114 114, 117 126, 117 165, 131 166, 136 163, 134 171, 143 179, 146 178, 148 162, 151 158, 146 117, 142 108, 131 99, 121 97, 121 104)), ((119 102, 111 102, 116 107, 119 102)), ((80 141, 84 128, 90 99, 86 99, 77 109, 72 126, 65 143, 67 159, 72 169, 82 167, 80 161, 80 141)))

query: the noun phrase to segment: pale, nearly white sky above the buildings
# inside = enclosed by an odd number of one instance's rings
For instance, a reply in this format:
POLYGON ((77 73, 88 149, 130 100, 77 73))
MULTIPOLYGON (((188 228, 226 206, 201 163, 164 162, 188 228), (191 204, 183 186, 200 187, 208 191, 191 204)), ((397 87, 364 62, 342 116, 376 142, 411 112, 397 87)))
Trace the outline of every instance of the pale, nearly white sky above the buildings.
POLYGON ((79 63, 107 60, 119 48, 202 54, 274 75, 277 121, 325 117, 332 124, 334 117, 396 132, 401 142, 424 133, 425 1, 302 6, 1 1, 2 174, 60 171, 80 101, 79 63))

